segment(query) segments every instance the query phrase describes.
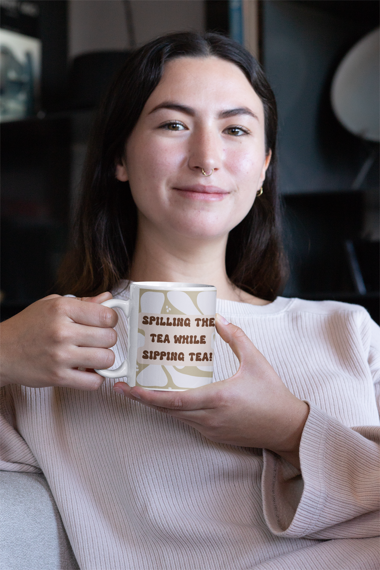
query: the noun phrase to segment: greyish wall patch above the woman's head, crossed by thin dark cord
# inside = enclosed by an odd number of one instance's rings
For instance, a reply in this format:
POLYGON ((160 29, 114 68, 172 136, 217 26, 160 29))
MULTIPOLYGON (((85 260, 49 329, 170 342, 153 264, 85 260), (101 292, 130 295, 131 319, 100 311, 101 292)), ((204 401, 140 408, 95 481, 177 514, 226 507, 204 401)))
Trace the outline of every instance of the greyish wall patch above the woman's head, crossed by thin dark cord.
MULTIPOLYGON (((130 0, 137 45, 169 31, 205 28, 204 0, 130 0)), ((69 56, 129 46, 122 0, 69 0, 69 56)))

